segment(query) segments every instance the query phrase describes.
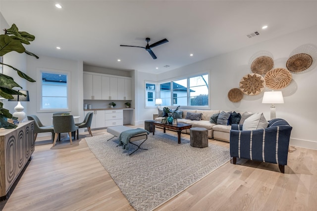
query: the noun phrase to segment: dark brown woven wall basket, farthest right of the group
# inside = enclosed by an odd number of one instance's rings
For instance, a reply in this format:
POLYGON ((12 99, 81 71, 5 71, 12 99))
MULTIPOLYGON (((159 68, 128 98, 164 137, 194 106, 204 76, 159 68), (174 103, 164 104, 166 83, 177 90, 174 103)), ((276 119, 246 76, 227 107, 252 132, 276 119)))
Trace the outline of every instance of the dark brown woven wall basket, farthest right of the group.
POLYGON ((309 68, 312 63, 312 56, 307 53, 298 53, 287 60, 286 67, 291 72, 302 72, 309 68))

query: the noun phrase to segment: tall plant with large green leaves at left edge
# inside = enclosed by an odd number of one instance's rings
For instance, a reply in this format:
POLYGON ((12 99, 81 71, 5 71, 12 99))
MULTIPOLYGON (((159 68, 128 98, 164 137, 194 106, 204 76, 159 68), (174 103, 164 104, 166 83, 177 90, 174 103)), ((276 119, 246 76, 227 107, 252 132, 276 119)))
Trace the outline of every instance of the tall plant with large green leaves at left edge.
MULTIPOLYGON (((35 40, 35 36, 31 35, 27 32, 20 32, 18 30, 18 27, 15 24, 12 24, 12 26, 9 29, 4 29, 4 34, 0 35, 0 56, 5 55, 6 53, 10 53, 12 51, 15 51, 17 53, 26 53, 28 55, 32 55, 36 58, 39 58, 34 53, 31 53, 27 50, 25 50, 24 46, 29 45, 30 42, 35 40)), ((24 72, 18 70, 17 68, 3 63, 3 61, 0 61, 0 65, 5 65, 13 70, 17 71, 17 74, 21 77, 26 79, 30 82, 35 82, 34 79, 26 75, 24 72)), ((23 89, 19 84, 17 84, 14 79, 10 76, 7 76, 0 72, 0 97, 4 99, 13 99, 12 95, 23 95, 22 93, 18 92, 18 90, 14 90, 12 88, 17 87, 20 89, 23 89)), ((3 103, 0 102, 0 128, 5 129, 12 129, 16 128, 17 125, 11 124, 7 122, 7 118, 16 119, 16 117, 12 116, 12 114, 9 112, 8 109, 5 109, 3 107, 3 103)))

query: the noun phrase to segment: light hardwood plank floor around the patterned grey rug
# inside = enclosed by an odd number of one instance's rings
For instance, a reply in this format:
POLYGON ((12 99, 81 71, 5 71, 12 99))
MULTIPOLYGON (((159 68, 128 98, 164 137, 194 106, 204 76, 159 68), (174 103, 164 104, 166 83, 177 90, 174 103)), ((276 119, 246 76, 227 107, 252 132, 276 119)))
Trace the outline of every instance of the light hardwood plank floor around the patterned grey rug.
MULTIPOLYGON (((102 135, 106 130, 94 130, 102 135)), ((169 132, 169 131, 167 131, 169 132)), ((174 133, 173 133, 174 134, 174 133)), ((36 141, 32 161, 3 211, 132 211, 114 181, 89 150, 85 137, 56 144, 36 141)), ((189 138, 182 134, 182 137, 189 138)), ((229 143, 210 140, 229 148, 229 143)), ((3 208, 4 206, 4 208, 3 208)), ((290 148, 285 174, 277 164, 237 159, 225 163, 156 211, 317 210, 317 151, 290 148), (232 161, 231 161, 232 162, 232 161)))

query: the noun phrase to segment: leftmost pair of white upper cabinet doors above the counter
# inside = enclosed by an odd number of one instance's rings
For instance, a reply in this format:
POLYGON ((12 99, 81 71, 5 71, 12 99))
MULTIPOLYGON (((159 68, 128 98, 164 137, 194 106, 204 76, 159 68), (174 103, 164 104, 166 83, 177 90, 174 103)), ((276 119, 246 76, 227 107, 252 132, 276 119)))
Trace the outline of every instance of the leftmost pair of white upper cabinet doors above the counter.
POLYGON ((102 100, 102 77, 84 73, 83 88, 84 100, 102 100))

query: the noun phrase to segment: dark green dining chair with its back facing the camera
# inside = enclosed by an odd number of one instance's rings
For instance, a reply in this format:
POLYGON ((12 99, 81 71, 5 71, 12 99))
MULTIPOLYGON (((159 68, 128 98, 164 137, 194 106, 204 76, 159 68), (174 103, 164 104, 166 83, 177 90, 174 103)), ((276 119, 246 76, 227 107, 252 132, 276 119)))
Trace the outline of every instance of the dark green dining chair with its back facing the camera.
POLYGON ((57 135, 59 133, 68 133, 70 144, 72 143, 72 132, 78 130, 78 126, 75 125, 73 115, 53 115, 53 127, 54 127, 54 142, 53 147, 56 144, 57 135))

